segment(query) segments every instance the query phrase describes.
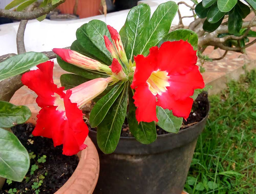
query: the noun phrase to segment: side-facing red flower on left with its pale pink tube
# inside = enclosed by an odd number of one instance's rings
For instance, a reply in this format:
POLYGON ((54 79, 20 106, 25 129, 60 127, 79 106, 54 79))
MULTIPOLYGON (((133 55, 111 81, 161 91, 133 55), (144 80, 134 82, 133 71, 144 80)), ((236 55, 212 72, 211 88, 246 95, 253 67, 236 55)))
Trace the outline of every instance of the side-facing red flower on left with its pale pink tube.
POLYGON ((63 91, 64 87, 58 88, 53 82, 53 66, 51 61, 39 64, 37 70, 25 73, 21 80, 36 92, 36 102, 42 108, 32 134, 52 138, 54 146, 63 144, 63 154, 71 156, 87 147, 84 140, 88 127, 79 107, 104 91, 112 78, 98 78, 63 91))

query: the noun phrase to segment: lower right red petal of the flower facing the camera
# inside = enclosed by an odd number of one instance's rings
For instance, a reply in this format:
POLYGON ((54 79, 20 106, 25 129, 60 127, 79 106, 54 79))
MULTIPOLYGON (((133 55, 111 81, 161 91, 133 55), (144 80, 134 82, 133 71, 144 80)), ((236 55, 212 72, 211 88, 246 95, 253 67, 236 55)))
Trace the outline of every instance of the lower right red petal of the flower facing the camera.
POLYGON ((157 106, 161 106, 162 108, 172 110, 174 116, 183 117, 187 119, 192 108, 193 99, 190 97, 176 100, 174 95, 170 94, 170 92, 164 92, 161 96, 157 95, 157 106))

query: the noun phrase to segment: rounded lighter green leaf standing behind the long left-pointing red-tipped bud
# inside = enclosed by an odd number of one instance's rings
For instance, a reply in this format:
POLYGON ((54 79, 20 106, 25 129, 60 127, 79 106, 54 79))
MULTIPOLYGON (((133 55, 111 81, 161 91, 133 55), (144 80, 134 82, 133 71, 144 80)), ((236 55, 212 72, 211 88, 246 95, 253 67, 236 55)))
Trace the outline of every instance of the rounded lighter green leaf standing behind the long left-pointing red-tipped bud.
MULTIPOLYGON (((100 50, 100 52, 105 54, 105 56, 110 60, 110 62, 112 62, 112 57, 110 55, 110 52, 106 48, 104 40, 104 35, 106 35, 111 41, 111 36, 105 22, 102 22, 100 20, 92 20, 85 26, 85 29, 90 41, 98 48, 98 50, 100 50)), ((98 56, 98 53, 94 55, 98 56)))

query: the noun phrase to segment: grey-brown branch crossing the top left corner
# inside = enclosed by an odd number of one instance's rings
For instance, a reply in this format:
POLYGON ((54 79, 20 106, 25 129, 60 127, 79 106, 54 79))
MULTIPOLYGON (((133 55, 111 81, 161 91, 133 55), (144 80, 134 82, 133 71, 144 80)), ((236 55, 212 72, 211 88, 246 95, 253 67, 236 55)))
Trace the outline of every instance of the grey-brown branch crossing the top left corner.
POLYGON ((39 9, 31 11, 31 12, 16 12, 16 11, 12 11, 12 10, 0 9, 0 17, 10 18, 10 19, 14 19, 14 20, 32 20, 32 19, 35 19, 35 18, 38 18, 40 16, 50 13, 58 5, 60 5, 64 2, 65 2, 65 0, 61 0, 60 2, 58 2, 55 5, 49 4, 48 6, 44 6, 42 8, 39 8, 39 9))

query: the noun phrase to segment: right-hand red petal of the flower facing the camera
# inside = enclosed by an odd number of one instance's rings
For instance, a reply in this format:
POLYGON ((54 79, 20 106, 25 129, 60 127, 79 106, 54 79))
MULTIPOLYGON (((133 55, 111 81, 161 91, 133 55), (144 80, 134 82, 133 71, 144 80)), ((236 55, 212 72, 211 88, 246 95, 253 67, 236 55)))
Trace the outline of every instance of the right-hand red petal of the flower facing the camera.
POLYGON ((187 74, 170 75, 168 82, 170 87, 167 89, 176 99, 187 98, 194 94, 195 89, 204 88, 203 77, 196 65, 187 74))

